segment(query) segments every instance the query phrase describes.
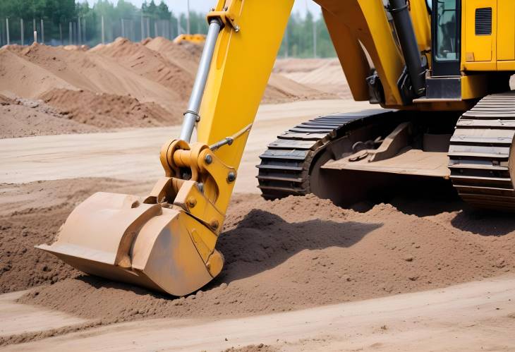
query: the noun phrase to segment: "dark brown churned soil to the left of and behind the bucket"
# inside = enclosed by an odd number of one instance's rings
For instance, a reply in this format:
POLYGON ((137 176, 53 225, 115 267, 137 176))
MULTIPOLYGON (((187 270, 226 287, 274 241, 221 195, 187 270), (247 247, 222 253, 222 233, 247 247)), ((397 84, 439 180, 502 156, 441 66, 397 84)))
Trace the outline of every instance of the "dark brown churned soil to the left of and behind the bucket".
POLYGON ((98 178, 0 185, 0 292, 78 276, 75 269, 34 245, 52 241, 73 207, 93 192, 123 193, 130 188, 138 193, 144 187, 98 178))

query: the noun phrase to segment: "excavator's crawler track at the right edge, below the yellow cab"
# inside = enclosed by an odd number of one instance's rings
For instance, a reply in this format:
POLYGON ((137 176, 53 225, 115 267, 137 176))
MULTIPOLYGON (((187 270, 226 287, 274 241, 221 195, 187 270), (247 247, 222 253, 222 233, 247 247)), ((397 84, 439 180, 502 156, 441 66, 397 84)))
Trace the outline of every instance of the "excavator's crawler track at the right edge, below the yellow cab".
POLYGON ((515 92, 488 95, 461 116, 449 147, 452 183, 475 207, 515 210, 515 92))

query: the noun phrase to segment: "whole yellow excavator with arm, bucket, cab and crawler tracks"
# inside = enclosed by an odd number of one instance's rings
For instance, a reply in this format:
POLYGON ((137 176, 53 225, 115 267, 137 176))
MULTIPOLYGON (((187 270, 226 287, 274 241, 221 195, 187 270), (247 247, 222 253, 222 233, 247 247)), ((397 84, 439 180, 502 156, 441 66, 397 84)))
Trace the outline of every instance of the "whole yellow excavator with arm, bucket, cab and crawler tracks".
MULTIPOLYGON (((353 98, 382 109, 320 116, 280 135, 258 165, 264 197, 315 193, 344 204, 361 186, 437 178, 474 206, 513 210, 515 1, 316 2, 353 98)), ((145 198, 92 195, 39 248, 175 296, 216 277, 224 259, 215 245, 292 6, 219 0, 181 135, 160 153, 164 176, 145 198)))

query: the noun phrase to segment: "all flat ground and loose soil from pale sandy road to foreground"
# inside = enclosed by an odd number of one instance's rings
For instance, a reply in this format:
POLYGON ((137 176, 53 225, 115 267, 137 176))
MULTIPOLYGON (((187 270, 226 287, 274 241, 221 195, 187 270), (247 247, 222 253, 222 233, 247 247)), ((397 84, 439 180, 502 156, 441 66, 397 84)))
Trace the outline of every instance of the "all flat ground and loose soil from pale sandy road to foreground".
POLYGON ((262 106, 217 245, 224 272, 185 298, 83 277, 32 248, 51 242, 71 209, 97 190, 144 195, 161 174, 159 146, 178 127, 0 140, 2 181, 10 183, 0 187, 0 284, 7 292, 0 296, 0 344, 63 351, 510 350, 510 215, 476 212, 456 199, 397 198, 357 211, 313 196, 269 202, 248 194, 266 142, 303 120, 295 111, 321 107, 366 106, 262 106))

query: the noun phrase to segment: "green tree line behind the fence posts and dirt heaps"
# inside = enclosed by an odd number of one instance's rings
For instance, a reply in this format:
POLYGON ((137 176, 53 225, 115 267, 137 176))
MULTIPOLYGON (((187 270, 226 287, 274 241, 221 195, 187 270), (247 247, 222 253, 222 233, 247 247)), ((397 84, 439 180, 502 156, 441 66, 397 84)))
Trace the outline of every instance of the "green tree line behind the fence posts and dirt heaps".
MULTIPOLYGON (((207 33, 204 13, 191 11, 188 21, 186 14, 174 13, 164 1, 145 1, 140 8, 126 0, 116 4, 98 0, 93 6, 75 0, 0 1, 0 45, 21 44, 22 37, 23 44, 30 44, 34 30, 39 42, 51 45, 92 46, 121 36, 135 41, 157 36, 173 39, 187 32, 188 23, 191 33, 207 33)), ((279 56, 335 56, 321 16, 292 13, 279 56)))

